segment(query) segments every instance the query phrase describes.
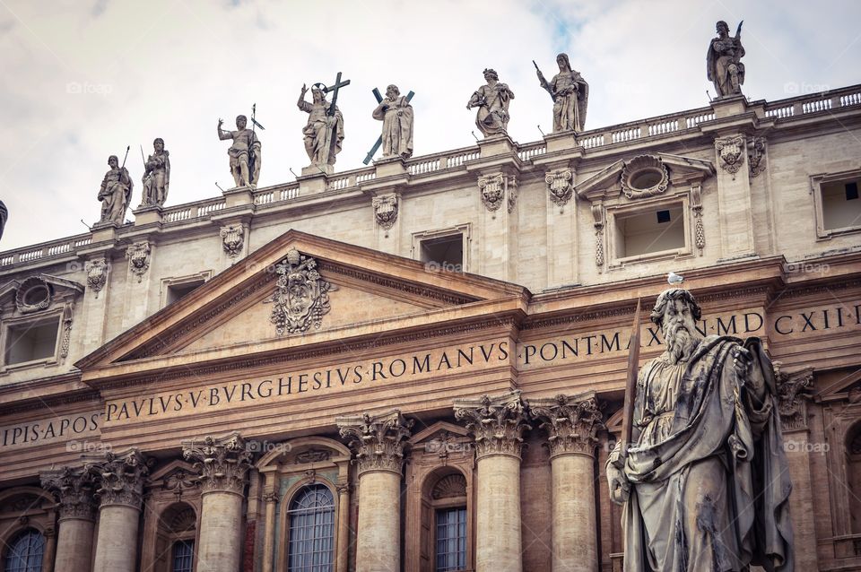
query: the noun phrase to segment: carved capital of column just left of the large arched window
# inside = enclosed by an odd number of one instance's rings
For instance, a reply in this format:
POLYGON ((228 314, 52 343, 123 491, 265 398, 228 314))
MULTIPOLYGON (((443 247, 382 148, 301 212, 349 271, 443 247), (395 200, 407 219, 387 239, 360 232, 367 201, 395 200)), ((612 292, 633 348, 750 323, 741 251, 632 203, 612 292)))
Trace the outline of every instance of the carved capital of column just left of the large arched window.
POLYGON ((233 431, 221 437, 205 437, 203 441, 182 442, 182 456, 194 461, 203 493, 232 492, 242 495, 245 477, 251 467, 251 452, 245 440, 233 431))

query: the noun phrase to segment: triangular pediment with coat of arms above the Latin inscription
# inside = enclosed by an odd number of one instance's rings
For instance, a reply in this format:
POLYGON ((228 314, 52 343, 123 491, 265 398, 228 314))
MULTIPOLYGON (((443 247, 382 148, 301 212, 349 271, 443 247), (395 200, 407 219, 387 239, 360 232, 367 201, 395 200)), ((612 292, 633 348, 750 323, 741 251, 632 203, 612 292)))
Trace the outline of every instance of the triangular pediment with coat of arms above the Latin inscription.
POLYGON ((476 306, 526 297, 508 282, 289 230, 76 365, 89 377, 160 358, 282 351, 457 319, 480 312, 476 306))

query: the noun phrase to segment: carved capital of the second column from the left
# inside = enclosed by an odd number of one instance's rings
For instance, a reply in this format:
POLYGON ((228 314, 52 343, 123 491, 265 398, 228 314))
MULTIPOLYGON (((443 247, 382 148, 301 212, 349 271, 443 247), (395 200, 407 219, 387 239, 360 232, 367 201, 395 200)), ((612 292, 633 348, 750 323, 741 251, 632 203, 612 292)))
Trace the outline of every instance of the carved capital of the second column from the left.
POLYGON ((143 481, 150 473, 151 465, 152 460, 132 447, 119 453, 108 451, 100 458, 91 459, 86 468, 99 484, 96 498, 102 507, 125 505, 140 509, 143 481))

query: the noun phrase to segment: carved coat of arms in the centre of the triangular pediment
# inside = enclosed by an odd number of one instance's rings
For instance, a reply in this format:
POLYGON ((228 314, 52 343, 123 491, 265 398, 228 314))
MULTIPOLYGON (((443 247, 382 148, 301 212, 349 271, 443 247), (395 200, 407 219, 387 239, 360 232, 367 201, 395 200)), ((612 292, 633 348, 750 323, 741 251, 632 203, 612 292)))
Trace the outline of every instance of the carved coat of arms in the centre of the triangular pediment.
POLYGON ((283 262, 275 264, 275 272, 278 273, 275 291, 264 300, 274 304, 269 320, 275 325, 275 332, 302 334, 312 325, 319 328, 323 316, 331 309, 329 292, 337 290, 337 286, 323 280, 317 272, 317 261, 300 255, 296 248, 287 251, 283 262))

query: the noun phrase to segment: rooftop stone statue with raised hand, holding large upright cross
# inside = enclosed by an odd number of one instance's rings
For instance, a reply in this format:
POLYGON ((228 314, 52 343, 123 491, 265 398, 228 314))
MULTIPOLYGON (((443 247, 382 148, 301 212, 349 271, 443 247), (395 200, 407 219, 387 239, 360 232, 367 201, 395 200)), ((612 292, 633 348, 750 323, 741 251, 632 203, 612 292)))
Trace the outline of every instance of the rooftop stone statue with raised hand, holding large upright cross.
POLYGON ((308 87, 303 84, 297 107, 308 114, 308 123, 302 128, 305 139, 305 152, 311 165, 325 167, 335 165, 335 155, 341 152, 344 141, 344 116, 337 106, 326 101, 320 89, 322 83, 311 86, 311 102, 305 100, 308 87))

